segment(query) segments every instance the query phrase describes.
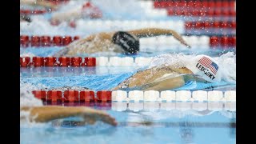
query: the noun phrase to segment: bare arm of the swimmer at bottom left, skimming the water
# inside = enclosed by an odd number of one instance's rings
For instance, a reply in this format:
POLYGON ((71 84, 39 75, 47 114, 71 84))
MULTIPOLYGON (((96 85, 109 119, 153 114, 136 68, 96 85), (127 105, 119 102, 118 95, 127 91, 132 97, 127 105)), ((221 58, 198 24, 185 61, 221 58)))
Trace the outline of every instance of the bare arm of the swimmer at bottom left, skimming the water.
POLYGON ((64 107, 64 106, 23 106, 21 110, 30 111, 30 120, 35 122, 50 122, 58 118, 82 117, 88 123, 97 120, 116 126, 115 119, 102 110, 94 110, 88 107, 64 107))

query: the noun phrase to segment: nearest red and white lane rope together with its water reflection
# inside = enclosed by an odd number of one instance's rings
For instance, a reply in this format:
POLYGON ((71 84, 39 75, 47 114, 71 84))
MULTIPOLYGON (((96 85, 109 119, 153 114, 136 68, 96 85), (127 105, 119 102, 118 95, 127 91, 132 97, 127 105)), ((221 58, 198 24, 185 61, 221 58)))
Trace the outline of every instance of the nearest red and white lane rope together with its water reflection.
POLYGON ((236 110, 236 91, 33 90, 46 105, 100 106, 123 110, 236 110))

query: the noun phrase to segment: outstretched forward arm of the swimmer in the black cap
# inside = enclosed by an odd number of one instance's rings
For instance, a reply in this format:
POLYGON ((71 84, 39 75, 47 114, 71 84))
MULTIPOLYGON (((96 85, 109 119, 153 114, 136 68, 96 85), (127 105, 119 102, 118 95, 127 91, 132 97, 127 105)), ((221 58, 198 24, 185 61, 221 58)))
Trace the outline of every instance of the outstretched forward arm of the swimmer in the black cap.
POLYGON ((180 34, 170 29, 144 28, 140 30, 130 30, 128 32, 136 35, 138 38, 154 37, 158 35, 173 35, 174 38, 178 39, 179 42, 182 42, 182 44, 184 44, 185 46, 188 46, 189 48, 191 47, 185 42, 185 40, 182 38, 180 34))

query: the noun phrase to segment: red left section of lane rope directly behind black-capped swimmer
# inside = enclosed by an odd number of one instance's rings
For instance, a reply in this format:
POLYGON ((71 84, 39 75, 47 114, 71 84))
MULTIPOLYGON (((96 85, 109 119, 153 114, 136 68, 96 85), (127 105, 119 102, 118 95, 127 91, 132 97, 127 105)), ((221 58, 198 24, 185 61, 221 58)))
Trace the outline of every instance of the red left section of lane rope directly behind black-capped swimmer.
POLYGON ((69 35, 66 36, 54 36, 50 37, 47 35, 37 36, 37 35, 21 35, 20 36, 20 46, 21 47, 38 47, 38 46, 67 46, 71 42, 78 40, 79 36, 71 37, 69 35))

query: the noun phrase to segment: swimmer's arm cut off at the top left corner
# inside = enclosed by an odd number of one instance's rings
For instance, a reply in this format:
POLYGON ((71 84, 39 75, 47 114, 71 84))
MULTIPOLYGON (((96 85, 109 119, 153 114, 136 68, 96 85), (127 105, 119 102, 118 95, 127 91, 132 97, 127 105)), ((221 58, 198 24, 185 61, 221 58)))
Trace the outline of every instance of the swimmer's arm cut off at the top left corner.
POLYGON ((44 0, 20 0, 20 4, 26 4, 30 6, 44 6, 51 9, 57 9, 57 5, 54 5, 52 2, 47 2, 44 0))

